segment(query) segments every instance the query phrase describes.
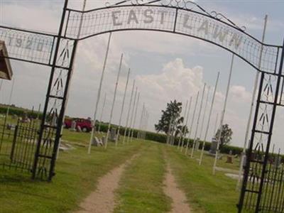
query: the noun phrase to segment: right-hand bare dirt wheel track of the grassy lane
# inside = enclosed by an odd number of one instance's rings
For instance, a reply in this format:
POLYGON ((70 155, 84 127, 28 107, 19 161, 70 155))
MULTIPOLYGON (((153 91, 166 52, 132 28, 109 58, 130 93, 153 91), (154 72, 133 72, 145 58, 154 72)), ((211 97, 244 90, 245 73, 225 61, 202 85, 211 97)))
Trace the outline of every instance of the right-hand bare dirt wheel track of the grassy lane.
POLYGON ((165 194, 173 200, 171 213, 190 213, 190 206, 187 204, 185 193, 178 188, 173 172, 168 165, 164 181, 165 194))

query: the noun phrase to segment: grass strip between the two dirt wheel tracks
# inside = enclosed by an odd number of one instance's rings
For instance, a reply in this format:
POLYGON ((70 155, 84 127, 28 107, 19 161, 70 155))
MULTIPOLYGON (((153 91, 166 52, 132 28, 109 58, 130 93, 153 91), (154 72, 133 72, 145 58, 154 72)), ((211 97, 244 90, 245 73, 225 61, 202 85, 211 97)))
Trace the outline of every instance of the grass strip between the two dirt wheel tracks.
POLYGON ((146 143, 121 178, 114 212, 168 212, 170 199, 163 192, 163 147, 146 143))

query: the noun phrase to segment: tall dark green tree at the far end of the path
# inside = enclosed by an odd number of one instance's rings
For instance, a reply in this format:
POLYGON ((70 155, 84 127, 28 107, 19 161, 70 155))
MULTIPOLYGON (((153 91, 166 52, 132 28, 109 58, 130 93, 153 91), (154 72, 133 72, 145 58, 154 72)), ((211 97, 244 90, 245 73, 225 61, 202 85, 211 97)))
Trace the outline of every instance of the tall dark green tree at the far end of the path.
POLYGON ((155 130, 157 132, 163 131, 168 133, 170 124, 172 124, 171 131, 173 132, 174 136, 180 135, 183 129, 185 129, 185 133, 187 133, 187 126, 182 126, 184 118, 180 116, 181 111, 181 102, 177 102, 176 100, 170 101, 170 103, 167 104, 166 109, 162 110, 162 116, 158 121, 158 124, 155 124, 155 130))

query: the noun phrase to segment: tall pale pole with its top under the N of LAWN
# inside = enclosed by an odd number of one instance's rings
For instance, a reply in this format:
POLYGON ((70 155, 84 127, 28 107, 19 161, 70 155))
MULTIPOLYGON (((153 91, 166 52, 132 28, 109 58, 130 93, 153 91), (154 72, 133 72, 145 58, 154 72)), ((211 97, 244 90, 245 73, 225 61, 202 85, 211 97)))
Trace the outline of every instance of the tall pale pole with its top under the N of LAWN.
POLYGON ((215 154, 214 165, 213 165, 213 175, 215 175, 215 172, 216 172, 216 165, 217 165, 217 160, 218 160, 220 141, 221 141, 221 136, 222 136, 222 131, 223 131, 223 122, 224 122, 224 116, 225 116, 225 112, 226 112, 226 102, 227 102, 228 95, 229 95, 229 89, 230 89, 230 84, 231 84, 231 73, 233 71, 233 65, 234 65, 234 54, 232 54, 232 56, 231 56, 231 68, 230 68, 230 73, 229 73, 228 84, 227 84, 227 87, 226 87, 226 97, 225 97, 225 101, 224 101, 224 107, 223 107, 221 120, 220 120, 219 136, 217 138, 217 151, 216 151, 216 154, 215 154))

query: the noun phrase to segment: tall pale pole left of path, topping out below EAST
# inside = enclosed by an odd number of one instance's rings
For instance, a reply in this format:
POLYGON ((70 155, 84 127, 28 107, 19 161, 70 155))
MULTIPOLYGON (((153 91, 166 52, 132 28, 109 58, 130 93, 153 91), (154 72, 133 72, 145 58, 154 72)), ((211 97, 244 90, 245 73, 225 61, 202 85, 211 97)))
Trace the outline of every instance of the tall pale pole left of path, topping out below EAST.
POLYGON ((106 55, 104 57, 104 65, 102 67, 102 75, 101 75, 101 80, 99 82, 99 90, 98 90, 98 94, 97 94, 97 102, 96 102, 96 107, 94 108, 94 119, 93 119, 91 137, 89 138, 88 154, 91 153, 92 141, 93 141, 93 138, 94 138, 94 131, 96 129, 97 111, 98 111, 98 107, 99 107, 99 99, 101 97, 101 92, 102 92, 102 82, 104 80, 104 71, 106 70, 107 58, 109 56, 109 45, 110 45, 110 43, 111 43, 111 33, 109 33, 109 41, 107 42, 107 52, 106 52, 106 55))

